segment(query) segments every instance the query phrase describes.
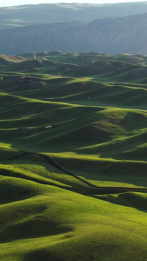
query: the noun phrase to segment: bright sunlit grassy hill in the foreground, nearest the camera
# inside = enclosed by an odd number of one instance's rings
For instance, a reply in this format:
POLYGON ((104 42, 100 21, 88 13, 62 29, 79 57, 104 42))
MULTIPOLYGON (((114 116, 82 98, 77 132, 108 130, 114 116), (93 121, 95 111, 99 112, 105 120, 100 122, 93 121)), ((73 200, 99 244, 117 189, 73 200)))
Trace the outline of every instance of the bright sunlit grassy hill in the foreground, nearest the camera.
POLYGON ((32 191, 32 197, 0 208, 1 260, 146 259, 143 211, 53 186, 15 181, 15 186, 22 185, 32 191))

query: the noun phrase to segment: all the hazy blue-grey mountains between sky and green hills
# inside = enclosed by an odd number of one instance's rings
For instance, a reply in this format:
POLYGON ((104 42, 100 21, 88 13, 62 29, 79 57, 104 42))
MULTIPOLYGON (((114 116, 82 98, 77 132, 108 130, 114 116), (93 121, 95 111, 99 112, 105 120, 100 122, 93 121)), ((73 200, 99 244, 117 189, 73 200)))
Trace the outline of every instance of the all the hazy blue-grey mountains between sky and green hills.
POLYGON ((147 54, 147 2, 0 8, 0 53, 147 54))

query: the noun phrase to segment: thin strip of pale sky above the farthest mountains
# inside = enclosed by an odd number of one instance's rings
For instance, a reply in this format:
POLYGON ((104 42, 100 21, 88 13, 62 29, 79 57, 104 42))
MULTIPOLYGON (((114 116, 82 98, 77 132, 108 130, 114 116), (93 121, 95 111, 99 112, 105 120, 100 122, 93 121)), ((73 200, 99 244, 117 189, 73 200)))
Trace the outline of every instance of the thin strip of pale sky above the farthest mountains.
POLYGON ((141 2, 142 0, 0 0, 0 7, 22 5, 22 4, 58 3, 58 2, 116 3, 116 2, 139 2, 139 1, 141 2))

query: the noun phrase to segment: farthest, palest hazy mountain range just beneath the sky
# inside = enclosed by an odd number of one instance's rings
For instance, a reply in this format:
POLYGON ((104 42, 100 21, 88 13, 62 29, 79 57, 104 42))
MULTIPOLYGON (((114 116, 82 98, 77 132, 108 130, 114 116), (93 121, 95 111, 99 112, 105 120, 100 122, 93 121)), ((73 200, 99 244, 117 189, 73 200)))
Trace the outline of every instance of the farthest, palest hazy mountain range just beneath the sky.
POLYGON ((2 7, 0 8, 0 29, 71 21, 89 24, 95 19, 146 12, 147 1, 113 4, 51 3, 2 7))

